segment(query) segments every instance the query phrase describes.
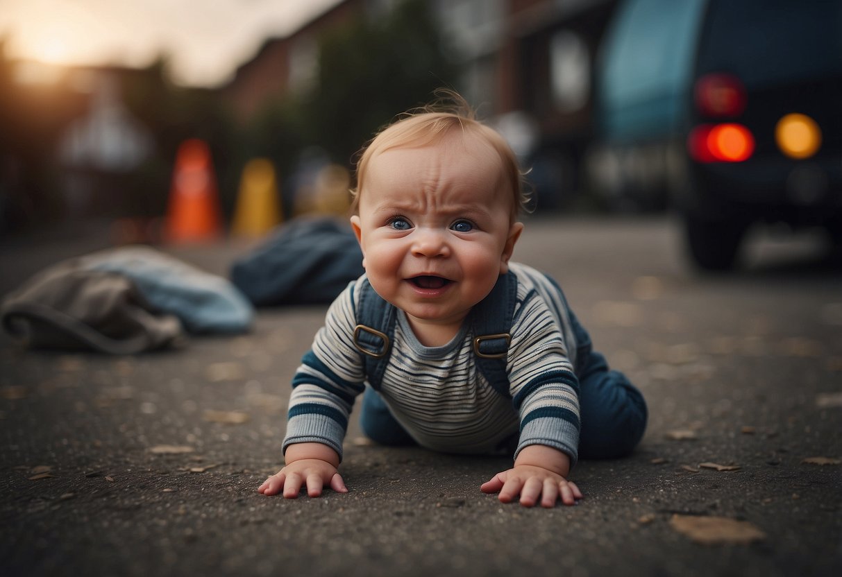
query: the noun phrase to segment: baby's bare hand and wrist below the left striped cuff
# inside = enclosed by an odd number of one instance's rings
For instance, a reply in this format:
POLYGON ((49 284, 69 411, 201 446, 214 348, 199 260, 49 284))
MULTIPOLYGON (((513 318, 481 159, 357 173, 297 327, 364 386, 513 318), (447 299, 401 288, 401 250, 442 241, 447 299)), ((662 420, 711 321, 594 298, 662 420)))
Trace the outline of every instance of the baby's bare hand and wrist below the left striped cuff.
POLYGON ((320 442, 299 442, 286 448, 286 466, 266 479, 258 487, 258 493, 277 495, 284 491, 285 499, 295 499, 305 485, 307 495, 322 495, 322 488, 329 486, 338 493, 348 489, 338 474, 339 455, 332 448, 320 442))

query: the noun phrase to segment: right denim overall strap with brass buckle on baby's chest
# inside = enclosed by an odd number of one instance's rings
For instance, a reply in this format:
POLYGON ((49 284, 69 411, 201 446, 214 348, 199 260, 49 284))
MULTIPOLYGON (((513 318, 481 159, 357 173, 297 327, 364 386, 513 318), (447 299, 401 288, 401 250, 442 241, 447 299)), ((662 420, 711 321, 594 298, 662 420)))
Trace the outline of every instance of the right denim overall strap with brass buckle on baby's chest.
POLYGON ((474 357, 482 375, 494 390, 509 397, 506 357, 512 340, 514 304, 518 279, 512 273, 501 274, 491 293, 472 310, 474 357))

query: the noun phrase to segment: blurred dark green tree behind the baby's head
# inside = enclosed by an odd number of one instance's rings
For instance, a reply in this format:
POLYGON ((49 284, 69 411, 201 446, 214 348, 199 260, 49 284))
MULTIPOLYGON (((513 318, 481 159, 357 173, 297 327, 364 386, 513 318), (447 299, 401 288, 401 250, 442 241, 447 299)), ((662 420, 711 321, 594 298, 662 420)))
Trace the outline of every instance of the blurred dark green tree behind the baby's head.
POLYGON ((321 150, 351 168, 376 130, 453 82, 456 66, 443 53, 429 4, 405 0, 386 18, 360 15, 322 34, 317 82, 270 99, 237 138, 238 166, 254 156, 273 161, 286 214, 303 157, 321 150))

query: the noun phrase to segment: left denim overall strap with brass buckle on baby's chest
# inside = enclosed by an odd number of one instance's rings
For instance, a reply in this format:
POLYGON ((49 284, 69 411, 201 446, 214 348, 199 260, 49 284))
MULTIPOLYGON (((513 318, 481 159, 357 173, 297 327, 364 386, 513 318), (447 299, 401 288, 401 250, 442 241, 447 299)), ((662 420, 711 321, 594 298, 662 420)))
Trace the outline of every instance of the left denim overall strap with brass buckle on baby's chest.
POLYGON ((397 310, 371 288, 368 278, 357 283, 356 290, 360 297, 357 300, 358 325, 354 327, 354 346, 363 353, 369 384, 379 390, 392 352, 397 310))

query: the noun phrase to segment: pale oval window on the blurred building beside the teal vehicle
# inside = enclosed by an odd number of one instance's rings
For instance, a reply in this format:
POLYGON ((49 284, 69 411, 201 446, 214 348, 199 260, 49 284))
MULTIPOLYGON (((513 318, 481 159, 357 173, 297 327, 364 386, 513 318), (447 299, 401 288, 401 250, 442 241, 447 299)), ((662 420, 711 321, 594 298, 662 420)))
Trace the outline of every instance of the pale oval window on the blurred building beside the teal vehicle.
POLYGON ((590 95, 590 52, 571 30, 553 34, 550 41, 550 86, 556 109, 573 113, 584 108, 590 95))

